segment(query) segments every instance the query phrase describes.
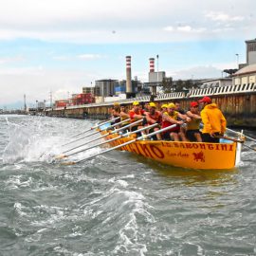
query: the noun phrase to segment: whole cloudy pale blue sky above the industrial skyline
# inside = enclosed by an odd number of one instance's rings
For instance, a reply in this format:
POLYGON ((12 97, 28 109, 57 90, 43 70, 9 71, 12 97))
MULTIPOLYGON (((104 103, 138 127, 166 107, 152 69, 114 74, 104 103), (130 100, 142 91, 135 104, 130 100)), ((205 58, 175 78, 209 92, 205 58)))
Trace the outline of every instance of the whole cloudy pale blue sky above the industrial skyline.
POLYGON ((9 0, 0 9, 0 108, 66 99, 101 79, 219 78, 246 63, 255 0, 9 0), (156 62, 158 55, 158 62, 156 62))

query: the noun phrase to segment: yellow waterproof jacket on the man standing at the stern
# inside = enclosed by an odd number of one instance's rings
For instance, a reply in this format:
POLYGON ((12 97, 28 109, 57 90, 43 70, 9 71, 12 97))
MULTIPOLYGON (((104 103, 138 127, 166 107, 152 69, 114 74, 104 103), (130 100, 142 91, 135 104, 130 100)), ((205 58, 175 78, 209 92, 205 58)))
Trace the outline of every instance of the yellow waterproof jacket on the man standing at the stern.
POLYGON ((201 118, 204 124, 203 134, 225 133, 227 121, 215 103, 208 104, 204 107, 201 111, 201 118))

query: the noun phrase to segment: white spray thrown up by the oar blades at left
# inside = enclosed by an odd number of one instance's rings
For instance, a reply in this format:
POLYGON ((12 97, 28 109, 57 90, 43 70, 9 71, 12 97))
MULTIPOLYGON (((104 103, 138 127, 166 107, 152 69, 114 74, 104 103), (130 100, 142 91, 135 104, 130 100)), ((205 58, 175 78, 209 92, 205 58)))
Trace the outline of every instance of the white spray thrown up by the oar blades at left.
MULTIPOLYGON (((34 161, 52 162, 52 156, 60 155, 64 151, 62 145, 64 141, 70 141, 70 132, 83 130, 90 125, 88 121, 68 120, 64 122, 62 119, 37 117, 27 117, 27 119, 19 119, 19 121, 20 123, 17 124, 7 120, 9 143, 3 154, 5 164, 34 161), (75 127, 74 123, 79 125, 79 129, 75 127)), ((88 154, 98 152, 99 148, 74 156, 77 159, 82 159, 88 154)))

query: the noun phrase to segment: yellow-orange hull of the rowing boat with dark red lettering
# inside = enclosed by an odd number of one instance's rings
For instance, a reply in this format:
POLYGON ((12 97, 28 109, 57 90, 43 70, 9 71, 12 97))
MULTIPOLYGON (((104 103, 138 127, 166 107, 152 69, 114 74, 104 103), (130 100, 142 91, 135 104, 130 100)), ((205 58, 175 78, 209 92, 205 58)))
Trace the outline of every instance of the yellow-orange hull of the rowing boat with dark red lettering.
MULTIPOLYGON (((105 139, 116 137, 110 135, 105 139)), ((109 143, 118 146, 133 138, 121 137, 109 143)), ((233 143, 137 140, 119 150, 143 155, 160 163, 192 169, 232 169, 238 164, 241 147, 233 143)))

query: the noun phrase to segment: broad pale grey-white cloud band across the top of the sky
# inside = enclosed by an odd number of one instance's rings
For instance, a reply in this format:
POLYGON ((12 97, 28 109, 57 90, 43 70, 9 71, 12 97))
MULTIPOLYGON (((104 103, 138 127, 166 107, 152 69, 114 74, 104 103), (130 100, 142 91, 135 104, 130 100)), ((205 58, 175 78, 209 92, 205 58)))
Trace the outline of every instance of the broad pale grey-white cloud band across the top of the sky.
POLYGON ((241 38, 245 29, 254 29, 252 9, 256 9, 253 0, 247 5, 239 0, 231 5, 220 0, 94 0, 90 4, 82 0, 9 0, 0 9, 0 39, 79 44, 174 42, 188 40, 186 33, 214 38, 222 33, 216 23, 233 22, 239 22, 239 27, 227 36, 241 38), (182 25, 176 26, 177 22, 182 25), (207 33, 214 28, 213 35, 207 33), (172 37, 167 31, 174 32, 172 37))

